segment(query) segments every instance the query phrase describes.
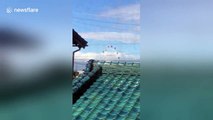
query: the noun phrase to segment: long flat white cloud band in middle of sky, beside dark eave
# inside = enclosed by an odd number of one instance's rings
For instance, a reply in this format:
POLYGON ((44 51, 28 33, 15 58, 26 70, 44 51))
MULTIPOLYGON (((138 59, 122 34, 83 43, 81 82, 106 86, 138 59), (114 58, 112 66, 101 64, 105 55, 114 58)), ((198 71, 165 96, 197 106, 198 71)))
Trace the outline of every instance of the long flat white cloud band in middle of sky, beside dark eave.
POLYGON ((80 35, 85 39, 92 40, 110 40, 120 41, 123 43, 138 43, 140 35, 129 32, 84 32, 80 35))

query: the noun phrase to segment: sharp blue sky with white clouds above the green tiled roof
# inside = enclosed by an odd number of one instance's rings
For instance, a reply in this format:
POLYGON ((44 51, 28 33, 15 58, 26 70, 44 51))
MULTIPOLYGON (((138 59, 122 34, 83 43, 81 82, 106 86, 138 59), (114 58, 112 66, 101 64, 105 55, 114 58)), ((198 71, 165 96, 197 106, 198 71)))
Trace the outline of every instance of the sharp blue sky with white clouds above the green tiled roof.
POLYGON ((76 54, 78 59, 140 58, 139 0, 73 1, 72 26, 89 45, 76 54), (107 47, 111 45, 116 50, 107 47))

